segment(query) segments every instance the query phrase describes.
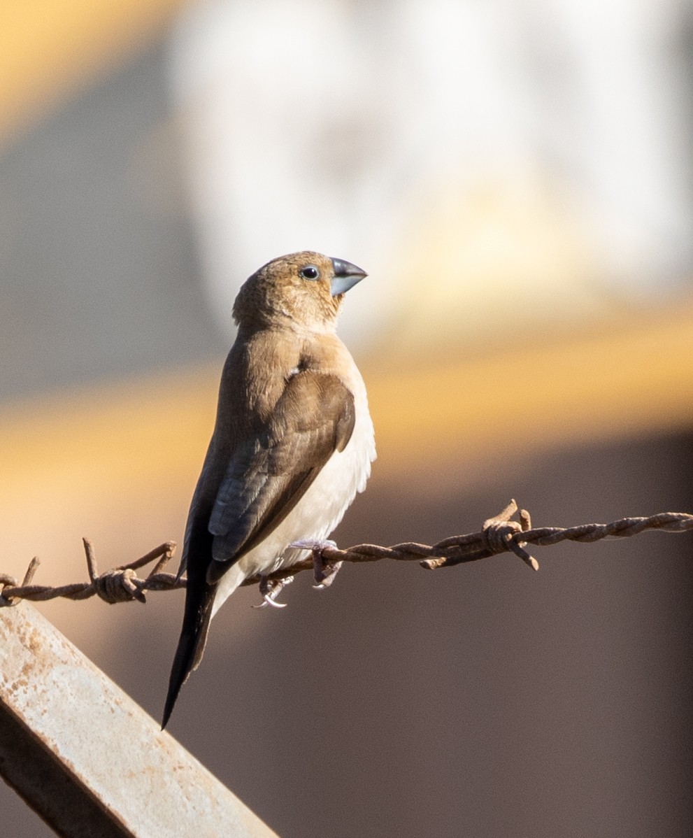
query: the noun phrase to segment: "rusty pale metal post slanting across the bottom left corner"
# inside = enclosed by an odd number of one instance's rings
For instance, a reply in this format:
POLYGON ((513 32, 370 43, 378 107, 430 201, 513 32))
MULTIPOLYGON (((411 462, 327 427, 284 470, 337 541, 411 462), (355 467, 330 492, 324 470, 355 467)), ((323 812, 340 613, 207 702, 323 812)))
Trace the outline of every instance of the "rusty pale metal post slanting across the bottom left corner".
POLYGON ((66 838, 277 838, 28 603, 0 608, 0 774, 66 838))

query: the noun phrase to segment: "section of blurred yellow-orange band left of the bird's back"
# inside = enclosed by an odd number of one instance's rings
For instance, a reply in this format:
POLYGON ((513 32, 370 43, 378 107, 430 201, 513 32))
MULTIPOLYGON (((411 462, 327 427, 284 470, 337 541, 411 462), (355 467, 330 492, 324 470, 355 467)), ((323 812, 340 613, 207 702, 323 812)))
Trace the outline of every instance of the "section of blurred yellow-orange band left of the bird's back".
POLYGON ((3 485, 53 473, 113 492, 154 478, 175 482, 204 456, 221 363, 26 401, 0 413, 3 485), (148 475, 148 477, 145 477, 148 475))

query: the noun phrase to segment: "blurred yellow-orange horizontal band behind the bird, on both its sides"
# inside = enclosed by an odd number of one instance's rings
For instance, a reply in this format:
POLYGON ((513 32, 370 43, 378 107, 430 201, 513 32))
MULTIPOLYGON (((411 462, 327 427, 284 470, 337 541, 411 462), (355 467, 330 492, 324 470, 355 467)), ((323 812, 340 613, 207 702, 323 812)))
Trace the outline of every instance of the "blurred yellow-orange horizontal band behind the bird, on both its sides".
MULTIPOLYGON (((453 352, 454 354, 454 352, 453 352)), ((96 469, 110 490, 189 485, 214 422, 222 360, 0 412, 3 489, 96 469)), ((693 305, 658 318, 445 363, 368 365, 378 472, 492 463, 613 437, 693 428, 693 305)), ((2 491, 2 490, 0 490, 2 491)))

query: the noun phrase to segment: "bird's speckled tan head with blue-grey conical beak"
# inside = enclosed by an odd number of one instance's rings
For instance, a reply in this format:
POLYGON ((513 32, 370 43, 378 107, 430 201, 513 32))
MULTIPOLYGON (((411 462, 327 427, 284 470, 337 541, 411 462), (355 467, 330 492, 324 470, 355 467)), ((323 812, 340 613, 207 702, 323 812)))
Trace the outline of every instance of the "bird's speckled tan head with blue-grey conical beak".
POLYGON ((240 287, 235 322, 240 328, 291 322, 311 331, 332 330, 344 293, 365 276, 351 262, 313 251, 280 256, 240 287))

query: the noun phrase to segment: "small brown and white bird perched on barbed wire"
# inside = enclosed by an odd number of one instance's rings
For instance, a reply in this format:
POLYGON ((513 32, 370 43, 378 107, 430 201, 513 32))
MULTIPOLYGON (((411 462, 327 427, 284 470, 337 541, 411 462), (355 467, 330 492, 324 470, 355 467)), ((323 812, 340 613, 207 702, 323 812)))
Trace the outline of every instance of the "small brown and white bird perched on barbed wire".
MULTIPOLYGON (((349 261, 301 251, 267 262, 235 298, 238 331, 185 527, 183 627, 162 730, 225 600, 249 577, 264 580, 311 554, 318 561, 365 489, 373 422, 335 327, 344 294, 366 276, 349 261)), ((278 604, 270 585, 261 592, 278 604)))

